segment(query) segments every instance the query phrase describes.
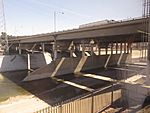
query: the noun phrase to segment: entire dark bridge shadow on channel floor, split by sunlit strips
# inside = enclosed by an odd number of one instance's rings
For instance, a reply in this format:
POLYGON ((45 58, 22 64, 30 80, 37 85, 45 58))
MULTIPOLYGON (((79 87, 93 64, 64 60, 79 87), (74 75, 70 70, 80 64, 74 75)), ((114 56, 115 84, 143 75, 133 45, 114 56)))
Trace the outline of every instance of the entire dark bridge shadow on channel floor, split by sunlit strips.
MULTIPOLYGON (((84 71, 86 73, 93 73, 96 75, 107 76, 113 79, 122 80, 132 76, 134 73, 128 71, 119 71, 115 69, 98 68, 94 70, 84 71)), ((37 96, 41 100, 45 101, 49 105, 56 105, 63 101, 70 100, 75 97, 79 97, 83 94, 89 94, 85 90, 75 88, 73 86, 66 85, 64 83, 59 83, 51 78, 23 82, 23 79, 28 75, 28 71, 14 71, 2 73, 3 76, 7 77, 12 82, 16 83, 21 88, 27 90, 31 94, 37 96)), ((77 84, 88 86, 93 89, 99 89, 112 84, 111 82, 106 82, 103 80, 96 80, 87 77, 77 77, 74 74, 68 74, 63 76, 57 76, 57 78, 68 80, 77 84)), ((119 88, 119 87, 118 87, 119 88)), ((105 90, 99 94, 112 92, 114 89, 105 90)))

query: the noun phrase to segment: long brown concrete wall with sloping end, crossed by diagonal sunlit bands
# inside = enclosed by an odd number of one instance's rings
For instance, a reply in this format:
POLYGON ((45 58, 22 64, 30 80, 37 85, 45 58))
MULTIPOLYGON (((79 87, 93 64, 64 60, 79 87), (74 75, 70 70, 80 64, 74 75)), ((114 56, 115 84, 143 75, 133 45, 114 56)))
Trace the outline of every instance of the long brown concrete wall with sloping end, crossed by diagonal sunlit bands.
POLYGON ((131 55, 127 53, 60 58, 30 73, 24 81, 38 80, 69 73, 78 73, 80 71, 90 69, 118 65, 130 62, 130 58, 131 55))

